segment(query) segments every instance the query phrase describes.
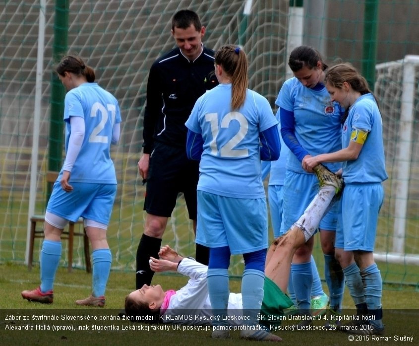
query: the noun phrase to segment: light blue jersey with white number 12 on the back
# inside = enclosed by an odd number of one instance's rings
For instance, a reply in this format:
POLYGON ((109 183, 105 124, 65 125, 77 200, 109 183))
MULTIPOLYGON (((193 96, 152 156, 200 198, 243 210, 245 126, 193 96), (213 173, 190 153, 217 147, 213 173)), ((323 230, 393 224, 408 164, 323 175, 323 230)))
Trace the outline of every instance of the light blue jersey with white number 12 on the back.
POLYGON ((269 102, 249 89, 244 104, 232 112, 231 88, 231 84, 220 84, 207 91, 185 124, 204 140, 197 190, 233 198, 265 198, 259 133, 278 122, 269 102))

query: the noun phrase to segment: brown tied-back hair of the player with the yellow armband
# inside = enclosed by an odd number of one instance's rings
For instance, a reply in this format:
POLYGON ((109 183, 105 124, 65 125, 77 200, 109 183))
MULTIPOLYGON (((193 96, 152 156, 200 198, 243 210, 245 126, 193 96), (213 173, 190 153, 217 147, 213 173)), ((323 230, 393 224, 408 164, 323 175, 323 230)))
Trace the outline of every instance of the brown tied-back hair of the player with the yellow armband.
MULTIPOLYGON (((350 63, 337 64, 326 69, 324 84, 327 83, 334 88, 342 89, 344 82, 347 82, 349 85, 351 85, 351 88, 355 91, 358 91, 361 95, 371 93, 372 96, 374 96, 375 102, 378 106, 378 100, 371 89, 368 87, 368 82, 350 63)), ((349 108, 345 111, 343 122, 348 117, 348 114, 349 108)))

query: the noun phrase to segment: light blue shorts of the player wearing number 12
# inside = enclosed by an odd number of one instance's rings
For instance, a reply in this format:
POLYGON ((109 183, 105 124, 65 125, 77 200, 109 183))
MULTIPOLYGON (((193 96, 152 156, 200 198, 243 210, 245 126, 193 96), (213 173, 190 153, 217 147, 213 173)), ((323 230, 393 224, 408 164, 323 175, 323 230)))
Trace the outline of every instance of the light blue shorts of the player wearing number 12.
POLYGON ((268 248, 266 199, 240 199, 198 191, 196 243, 229 246, 233 255, 268 248))

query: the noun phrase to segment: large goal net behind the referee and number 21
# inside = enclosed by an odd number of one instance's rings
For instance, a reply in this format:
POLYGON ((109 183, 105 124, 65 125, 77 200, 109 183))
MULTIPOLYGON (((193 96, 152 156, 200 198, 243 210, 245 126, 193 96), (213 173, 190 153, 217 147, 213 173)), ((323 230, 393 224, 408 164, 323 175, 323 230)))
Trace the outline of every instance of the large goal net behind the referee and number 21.
MULTIPOLYGON (((120 103, 122 133, 113 149, 118 196, 108 230, 113 269, 131 271, 143 232, 145 187, 137 161, 142 144, 142 118, 148 71, 152 62, 175 45, 171 17, 181 8, 195 10, 207 31, 204 43, 213 49, 240 44, 250 62, 250 87, 273 105, 285 71, 285 37, 289 1, 243 0, 72 0, 68 11, 68 53, 80 55, 95 69, 98 83, 120 103), (247 5, 246 14, 243 13, 247 5), (281 24, 282 23, 282 24, 281 24)), ((41 119, 37 157, 36 212, 46 203, 49 166, 51 76, 55 0, 45 8, 45 53, 41 85, 41 119)), ((5 1, 0 6, 0 260, 24 261, 28 223, 30 162, 33 145, 38 1, 5 1)), ((61 124, 59 124, 60 126, 61 124)), ((62 131, 62 128, 60 128, 62 131)), ((92 167, 94 169, 94 167, 92 167)), ((239 217, 239 215, 238 215, 239 217)), ((40 225, 42 227, 42 225, 40 225)), ((83 267, 82 239, 75 238, 74 266, 83 267), (79 242, 79 243, 77 243, 79 242)), ((163 243, 186 256, 194 255, 194 235, 182 196, 170 218, 163 243)), ((40 242, 35 242, 38 261, 40 242)), ((63 242, 66 246, 66 242, 63 242)), ((63 249, 63 261, 66 250, 63 249)), ((234 263, 233 263, 234 262, 234 263)), ((241 273, 241 259, 231 274, 241 273)))

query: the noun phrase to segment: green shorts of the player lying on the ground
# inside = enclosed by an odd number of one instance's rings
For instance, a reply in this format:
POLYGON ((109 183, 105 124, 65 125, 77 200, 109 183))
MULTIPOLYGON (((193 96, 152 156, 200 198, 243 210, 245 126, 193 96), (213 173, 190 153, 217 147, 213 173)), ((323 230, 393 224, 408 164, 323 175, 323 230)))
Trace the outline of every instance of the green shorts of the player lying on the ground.
POLYGON ((279 326, 281 324, 281 317, 285 316, 283 309, 292 306, 293 302, 290 297, 268 277, 265 277, 263 289, 262 307, 260 308, 262 318, 259 323, 279 326))

